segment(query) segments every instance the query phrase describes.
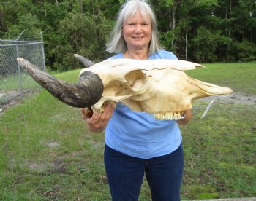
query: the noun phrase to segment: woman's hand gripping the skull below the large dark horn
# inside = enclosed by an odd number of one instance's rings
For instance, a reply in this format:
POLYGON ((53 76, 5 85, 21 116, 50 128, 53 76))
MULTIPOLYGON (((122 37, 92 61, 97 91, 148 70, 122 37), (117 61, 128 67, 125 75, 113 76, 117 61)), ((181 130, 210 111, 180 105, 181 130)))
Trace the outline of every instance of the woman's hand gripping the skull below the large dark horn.
POLYGON ((82 109, 82 118, 86 122, 86 127, 93 133, 100 133, 105 130, 109 119, 113 115, 115 106, 108 104, 104 112, 93 112, 89 109, 82 109))

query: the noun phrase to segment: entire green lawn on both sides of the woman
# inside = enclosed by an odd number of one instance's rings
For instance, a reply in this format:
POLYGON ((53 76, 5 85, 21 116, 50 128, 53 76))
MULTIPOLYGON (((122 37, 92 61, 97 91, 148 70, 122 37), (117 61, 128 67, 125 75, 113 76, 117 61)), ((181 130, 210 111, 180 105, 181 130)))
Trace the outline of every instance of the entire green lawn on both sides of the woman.
MULTIPOLYGON (((256 94, 255 63, 206 64, 189 75, 235 92, 256 94)), ((59 74, 76 82, 79 71, 59 74)), ((255 197, 256 103, 194 103, 182 126, 182 199, 255 197)), ((45 90, 0 117, 0 200, 110 200, 102 180, 104 134, 89 133, 75 109, 45 90), (55 144, 56 146, 50 146, 55 144)), ((140 200, 150 200, 143 183, 140 200)))

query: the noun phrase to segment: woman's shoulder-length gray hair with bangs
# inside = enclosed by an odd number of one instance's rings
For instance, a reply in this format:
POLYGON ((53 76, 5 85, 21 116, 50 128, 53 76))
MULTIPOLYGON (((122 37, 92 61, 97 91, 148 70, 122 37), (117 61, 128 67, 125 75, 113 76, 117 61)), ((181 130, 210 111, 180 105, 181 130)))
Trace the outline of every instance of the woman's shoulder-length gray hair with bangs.
POLYGON ((108 52, 124 53, 127 51, 127 44, 124 41, 124 37, 123 37, 123 25, 129 17, 134 16, 138 11, 143 17, 146 17, 148 15, 149 17, 151 17, 152 35, 151 35, 151 42, 149 46, 149 53, 152 54, 162 49, 162 47, 159 44, 159 39, 157 36, 157 20, 154 15, 153 9, 145 1, 130 0, 130 1, 127 1, 125 4, 123 4, 121 9, 118 12, 118 19, 116 21, 116 25, 113 28, 110 42, 107 44, 106 50, 108 52))

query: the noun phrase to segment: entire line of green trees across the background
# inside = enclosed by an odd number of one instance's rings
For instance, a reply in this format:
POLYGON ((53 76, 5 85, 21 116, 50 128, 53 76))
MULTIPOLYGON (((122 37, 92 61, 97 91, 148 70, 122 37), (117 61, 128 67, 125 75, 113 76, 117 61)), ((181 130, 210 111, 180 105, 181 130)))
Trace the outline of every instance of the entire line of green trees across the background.
MULTIPOLYGON (((149 1, 166 50, 197 62, 255 60, 254 0, 149 1)), ((105 44, 123 0, 0 1, 0 37, 43 32, 50 68, 79 68, 74 53, 95 61, 108 58, 105 44)), ((29 38, 26 36, 26 38, 29 38)))

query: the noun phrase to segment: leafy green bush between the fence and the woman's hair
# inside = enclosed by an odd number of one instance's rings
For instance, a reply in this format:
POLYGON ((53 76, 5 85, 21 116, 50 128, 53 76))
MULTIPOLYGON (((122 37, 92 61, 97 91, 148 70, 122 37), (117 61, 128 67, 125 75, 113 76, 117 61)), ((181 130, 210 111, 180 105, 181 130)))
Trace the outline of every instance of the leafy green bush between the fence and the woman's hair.
POLYGON ((103 60, 107 57, 105 43, 111 27, 102 13, 97 16, 70 12, 59 23, 60 44, 56 45, 56 63, 64 63, 59 70, 77 66, 72 53, 78 53, 91 60, 103 60), (68 52, 68 53, 67 53, 68 52))

